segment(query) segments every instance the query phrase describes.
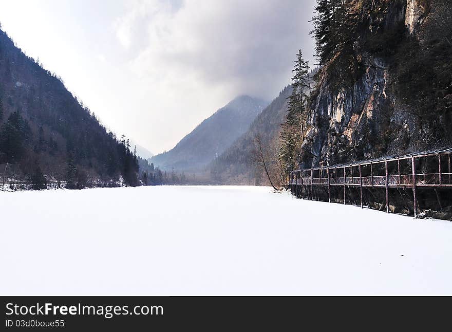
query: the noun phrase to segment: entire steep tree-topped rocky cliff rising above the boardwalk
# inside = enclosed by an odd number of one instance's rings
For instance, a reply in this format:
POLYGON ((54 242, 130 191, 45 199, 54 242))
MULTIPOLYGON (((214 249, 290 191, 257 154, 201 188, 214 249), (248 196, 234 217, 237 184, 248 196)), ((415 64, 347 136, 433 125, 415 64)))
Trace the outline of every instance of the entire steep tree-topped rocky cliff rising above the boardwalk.
POLYGON ((350 47, 319 72, 301 167, 451 146, 452 3, 365 1, 352 10, 357 22, 342 27, 350 47))

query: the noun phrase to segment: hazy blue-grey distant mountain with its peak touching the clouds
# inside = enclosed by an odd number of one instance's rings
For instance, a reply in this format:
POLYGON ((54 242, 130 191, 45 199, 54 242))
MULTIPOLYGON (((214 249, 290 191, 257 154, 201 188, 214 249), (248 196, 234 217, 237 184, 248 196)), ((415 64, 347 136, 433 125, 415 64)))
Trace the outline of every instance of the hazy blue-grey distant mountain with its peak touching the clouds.
POLYGON ((239 96, 202 121, 172 150, 152 157, 149 162, 162 170, 202 171, 247 131, 266 105, 263 100, 239 96))

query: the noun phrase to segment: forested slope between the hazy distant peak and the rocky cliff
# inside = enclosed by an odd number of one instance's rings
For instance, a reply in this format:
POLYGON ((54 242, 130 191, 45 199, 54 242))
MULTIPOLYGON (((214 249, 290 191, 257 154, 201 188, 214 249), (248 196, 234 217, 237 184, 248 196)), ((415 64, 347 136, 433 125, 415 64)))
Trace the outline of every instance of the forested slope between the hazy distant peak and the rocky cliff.
POLYGON ((281 123, 287 113, 287 97, 292 88, 285 87, 270 105, 252 122, 227 150, 209 164, 210 176, 215 183, 228 185, 267 185, 267 178, 253 161, 255 138, 258 135, 267 149, 278 143, 281 123))

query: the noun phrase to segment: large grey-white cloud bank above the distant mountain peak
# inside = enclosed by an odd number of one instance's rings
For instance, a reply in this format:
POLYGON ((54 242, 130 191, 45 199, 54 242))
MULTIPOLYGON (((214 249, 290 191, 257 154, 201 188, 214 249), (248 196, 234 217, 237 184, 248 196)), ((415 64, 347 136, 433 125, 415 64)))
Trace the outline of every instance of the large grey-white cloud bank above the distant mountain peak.
MULTIPOLYGON (((298 48, 312 60, 311 1, 136 1, 117 20, 130 67, 143 80, 274 97, 298 48)), ((207 91, 206 91, 207 92, 207 91)))

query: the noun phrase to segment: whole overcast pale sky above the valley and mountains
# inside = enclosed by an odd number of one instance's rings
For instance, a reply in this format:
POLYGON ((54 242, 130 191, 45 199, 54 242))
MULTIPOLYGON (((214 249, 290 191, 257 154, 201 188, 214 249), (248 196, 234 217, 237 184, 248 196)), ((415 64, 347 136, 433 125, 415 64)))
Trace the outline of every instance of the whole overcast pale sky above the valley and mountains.
POLYGON ((272 100, 314 0, 2 0, 3 29, 116 132, 170 150, 237 95, 272 100))

